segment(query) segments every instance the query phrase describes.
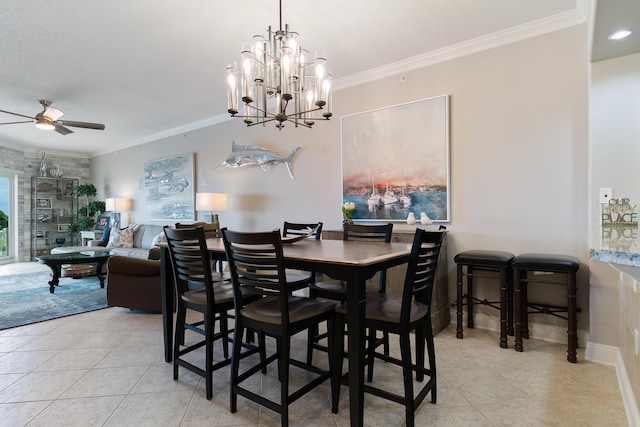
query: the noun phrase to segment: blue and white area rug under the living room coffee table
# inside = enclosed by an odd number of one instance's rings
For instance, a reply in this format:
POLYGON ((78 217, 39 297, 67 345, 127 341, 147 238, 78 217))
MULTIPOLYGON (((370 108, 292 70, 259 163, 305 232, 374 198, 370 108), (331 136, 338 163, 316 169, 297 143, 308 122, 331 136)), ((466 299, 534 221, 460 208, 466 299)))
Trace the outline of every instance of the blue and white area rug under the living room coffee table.
POLYGON ((0 276, 0 330, 107 307, 98 278, 63 277, 49 292, 50 273, 0 276))

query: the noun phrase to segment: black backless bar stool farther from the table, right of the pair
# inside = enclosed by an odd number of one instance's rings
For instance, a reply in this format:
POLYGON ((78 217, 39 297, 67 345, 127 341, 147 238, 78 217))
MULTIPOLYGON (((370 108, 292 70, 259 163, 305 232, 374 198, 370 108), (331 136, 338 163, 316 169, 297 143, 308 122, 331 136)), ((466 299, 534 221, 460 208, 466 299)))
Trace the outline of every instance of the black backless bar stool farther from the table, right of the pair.
POLYGON ((577 362, 578 347, 578 308, 576 305, 576 272, 580 261, 569 255, 522 254, 513 260, 514 296, 516 310, 516 351, 522 351, 522 338, 529 338, 529 314, 550 314, 567 320, 567 360, 577 362), (530 278, 531 272, 558 273, 552 277, 530 278), (564 280, 555 280, 562 275, 564 280), (549 280, 551 279, 551 280, 549 280), (567 306, 531 303, 527 299, 527 287, 530 284, 552 284, 567 287, 567 306), (531 310, 529 310, 531 309, 531 310), (558 313, 567 313, 566 316, 558 313))

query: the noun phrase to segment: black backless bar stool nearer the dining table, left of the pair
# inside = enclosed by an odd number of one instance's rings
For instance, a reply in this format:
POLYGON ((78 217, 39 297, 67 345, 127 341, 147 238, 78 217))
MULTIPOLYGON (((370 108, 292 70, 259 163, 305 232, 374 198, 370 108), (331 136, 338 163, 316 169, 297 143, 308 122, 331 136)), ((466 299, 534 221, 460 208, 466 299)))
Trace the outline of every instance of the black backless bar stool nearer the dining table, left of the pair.
POLYGON ((453 259, 457 265, 457 327, 456 338, 462 339, 462 305, 467 303, 467 327, 473 328, 473 306, 483 304, 500 310, 500 347, 507 348, 507 334, 513 335, 513 300, 510 252, 470 250, 460 252, 453 259), (466 272, 464 267, 466 266, 466 272), (499 273, 499 276, 483 274, 499 273), (462 294, 462 282, 467 278, 467 293, 462 294), (500 301, 481 300, 473 296, 473 278, 499 279, 500 301), (497 305, 499 304, 499 305, 497 305))

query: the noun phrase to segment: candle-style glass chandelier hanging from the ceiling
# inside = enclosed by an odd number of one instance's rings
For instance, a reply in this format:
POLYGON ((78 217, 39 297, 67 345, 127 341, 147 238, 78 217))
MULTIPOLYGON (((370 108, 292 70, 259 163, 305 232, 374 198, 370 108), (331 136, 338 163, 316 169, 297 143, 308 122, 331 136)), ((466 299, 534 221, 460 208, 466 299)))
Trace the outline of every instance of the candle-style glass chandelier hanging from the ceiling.
POLYGON ((324 52, 314 58, 298 45, 298 33, 282 29, 268 30, 268 38, 253 37, 253 43, 242 45, 242 63, 227 66, 227 101, 231 117, 244 119, 247 126, 275 121, 282 129, 284 122, 310 128, 316 120, 331 117, 331 75, 326 71, 324 52), (244 114, 238 115, 238 99, 244 114))

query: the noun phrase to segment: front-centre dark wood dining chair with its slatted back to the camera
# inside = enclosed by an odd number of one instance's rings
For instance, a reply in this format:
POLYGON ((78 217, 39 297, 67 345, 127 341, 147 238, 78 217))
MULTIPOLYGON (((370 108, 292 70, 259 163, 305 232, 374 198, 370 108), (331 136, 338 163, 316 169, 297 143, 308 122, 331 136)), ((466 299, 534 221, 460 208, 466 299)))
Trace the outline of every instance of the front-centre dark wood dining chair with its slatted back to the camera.
MULTIPOLYGON (((289 404, 302 397, 317 385, 332 378, 331 369, 322 370, 304 362, 294 360, 290 355, 291 337, 320 322, 327 321, 333 332, 335 303, 319 301, 307 297, 293 296, 289 291, 280 230, 263 233, 244 233, 222 229, 227 262, 231 272, 235 300, 235 334, 233 339, 233 363, 231 365, 231 412, 237 411, 238 395, 244 396, 281 415, 281 424, 289 423, 289 404), (266 296, 246 304, 242 290, 260 290, 266 296), (276 340, 276 352, 257 365, 240 373, 240 347, 244 331, 253 331, 276 340), (265 372, 266 366, 278 361, 280 379, 280 401, 267 399, 243 384, 258 371, 265 372), (293 365, 316 374, 307 384, 289 392, 289 366, 293 365)), ((264 339, 264 338, 263 338, 264 339)), ((333 342, 329 342, 333 349, 333 342)), ((331 366, 333 358, 329 358, 331 366)))

